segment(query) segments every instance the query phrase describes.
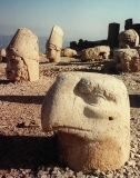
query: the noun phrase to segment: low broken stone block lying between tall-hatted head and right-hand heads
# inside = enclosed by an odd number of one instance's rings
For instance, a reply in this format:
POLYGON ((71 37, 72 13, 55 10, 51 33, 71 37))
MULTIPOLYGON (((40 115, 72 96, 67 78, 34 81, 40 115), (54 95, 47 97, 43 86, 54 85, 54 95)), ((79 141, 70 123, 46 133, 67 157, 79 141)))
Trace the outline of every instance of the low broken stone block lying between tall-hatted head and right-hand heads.
POLYGON ((94 48, 83 49, 81 51, 81 60, 102 60, 108 59, 110 55, 110 47, 98 46, 94 48))

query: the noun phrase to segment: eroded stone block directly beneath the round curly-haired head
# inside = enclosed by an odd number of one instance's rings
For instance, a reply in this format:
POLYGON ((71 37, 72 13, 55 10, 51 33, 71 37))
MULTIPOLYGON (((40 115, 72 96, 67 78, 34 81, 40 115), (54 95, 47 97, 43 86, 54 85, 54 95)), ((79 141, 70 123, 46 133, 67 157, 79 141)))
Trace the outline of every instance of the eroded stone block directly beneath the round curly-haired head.
POLYGON ((140 56, 136 49, 118 49, 113 51, 116 68, 123 72, 137 72, 140 70, 140 56))

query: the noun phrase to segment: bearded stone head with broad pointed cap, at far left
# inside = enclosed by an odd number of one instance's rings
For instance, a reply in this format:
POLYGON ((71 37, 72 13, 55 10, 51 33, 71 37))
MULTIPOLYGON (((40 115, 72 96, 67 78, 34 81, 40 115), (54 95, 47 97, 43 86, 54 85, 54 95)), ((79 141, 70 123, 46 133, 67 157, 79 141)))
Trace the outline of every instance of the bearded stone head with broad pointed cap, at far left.
POLYGON ((7 48, 7 59, 6 72, 9 80, 39 80, 38 37, 30 30, 17 30, 7 48))

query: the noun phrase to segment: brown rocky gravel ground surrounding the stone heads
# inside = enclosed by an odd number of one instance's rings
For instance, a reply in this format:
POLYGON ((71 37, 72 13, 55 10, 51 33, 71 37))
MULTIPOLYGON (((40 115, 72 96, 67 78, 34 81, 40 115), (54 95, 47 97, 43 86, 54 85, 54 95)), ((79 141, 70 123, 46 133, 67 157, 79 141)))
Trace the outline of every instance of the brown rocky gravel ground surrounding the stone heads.
MULTIPOLYGON (((62 58, 61 63, 40 59, 38 82, 10 82, 6 63, 0 63, 0 177, 1 178, 139 178, 140 177, 140 72, 120 73, 129 92, 131 107, 130 159, 120 169, 100 172, 74 172, 58 161, 53 132, 42 132, 40 123, 43 98, 62 71, 102 72, 103 62, 80 62, 62 58)), ((106 71, 106 70, 103 70, 106 71)), ((111 73, 110 73, 111 75, 111 73)))

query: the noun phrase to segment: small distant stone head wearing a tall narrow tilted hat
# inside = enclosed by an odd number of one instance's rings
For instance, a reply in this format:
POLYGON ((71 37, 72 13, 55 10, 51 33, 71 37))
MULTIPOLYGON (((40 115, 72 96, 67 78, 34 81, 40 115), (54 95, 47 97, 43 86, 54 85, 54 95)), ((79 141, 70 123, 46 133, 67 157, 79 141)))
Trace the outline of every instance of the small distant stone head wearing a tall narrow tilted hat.
POLYGON ((46 46, 47 58, 50 62, 59 62, 61 60, 60 56, 62 48, 62 29, 58 26, 54 26, 46 46))

